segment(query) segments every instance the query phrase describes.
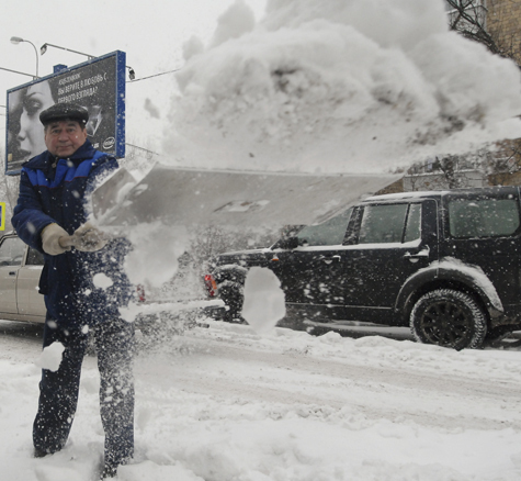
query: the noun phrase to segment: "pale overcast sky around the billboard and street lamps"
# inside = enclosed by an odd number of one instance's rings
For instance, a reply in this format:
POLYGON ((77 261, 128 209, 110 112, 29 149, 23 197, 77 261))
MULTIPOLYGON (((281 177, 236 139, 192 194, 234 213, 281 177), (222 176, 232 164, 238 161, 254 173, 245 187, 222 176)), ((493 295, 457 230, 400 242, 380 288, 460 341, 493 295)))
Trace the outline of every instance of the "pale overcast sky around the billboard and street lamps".
MULTIPOLYGON (((87 60, 87 57, 81 55, 53 47, 41 56, 39 47, 44 43, 93 56, 117 49, 126 52, 127 65, 134 68, 137 79, 172 70, 183 65, 182 44, 192 35, 206 43, 215 30, 217 18, 234 1, 0 0, 0 67, 31 75, 36 72, 36 54, 32 45, 13 45, 10 42, 11 36, 19 36, 36 46, 41 77, 52 74, 54 65, 65 64, 70 67, 87 60)), ((262 16, 265 0, 243 1, 252 8, 257 19, 262 16)), ((134 85, 127 83, 127 112, 139 112, 147 98, 151 107, 165 105, 171 79, 172 77, 167 75, 134 85), (159 98, 159 91, 165 91, 166 96, 159 98)), ((31 77, 0 70, 0 105, 5 105, 8 89, 31 80, 31 77)), ((2 150, 5 136, 4 114, 5 109, 2 107, 2 150)), ((127 141, 132 137, 139 137, 139 133, 128 132, 127 128, 127 141)))

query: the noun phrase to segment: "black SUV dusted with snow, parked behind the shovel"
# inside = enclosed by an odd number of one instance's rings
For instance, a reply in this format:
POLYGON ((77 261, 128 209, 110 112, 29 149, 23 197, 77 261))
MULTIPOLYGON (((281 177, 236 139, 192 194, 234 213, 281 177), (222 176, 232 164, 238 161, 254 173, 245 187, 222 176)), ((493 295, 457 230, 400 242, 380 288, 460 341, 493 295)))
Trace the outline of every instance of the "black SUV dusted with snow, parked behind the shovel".
POLYGON ((421 343, 478 348, 521 328, 518 187, 365 199, 270 248, 213 262, 228 320, 252 266, 271 269, 287 318, 407 326, 421 343), (296 315, 295 315, 296 314, 296 315))

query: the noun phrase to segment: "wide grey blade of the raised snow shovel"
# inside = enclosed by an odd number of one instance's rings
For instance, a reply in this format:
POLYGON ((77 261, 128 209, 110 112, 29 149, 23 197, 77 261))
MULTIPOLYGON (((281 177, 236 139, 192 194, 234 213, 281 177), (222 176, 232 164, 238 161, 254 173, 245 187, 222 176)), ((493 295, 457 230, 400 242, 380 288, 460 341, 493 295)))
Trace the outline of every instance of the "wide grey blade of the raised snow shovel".
POLYGON ((121 168, 92 194, 99 226, 214 224, 281 228, 326 221, 400 175, 203 170, 156 164, 139 182, 121 168))

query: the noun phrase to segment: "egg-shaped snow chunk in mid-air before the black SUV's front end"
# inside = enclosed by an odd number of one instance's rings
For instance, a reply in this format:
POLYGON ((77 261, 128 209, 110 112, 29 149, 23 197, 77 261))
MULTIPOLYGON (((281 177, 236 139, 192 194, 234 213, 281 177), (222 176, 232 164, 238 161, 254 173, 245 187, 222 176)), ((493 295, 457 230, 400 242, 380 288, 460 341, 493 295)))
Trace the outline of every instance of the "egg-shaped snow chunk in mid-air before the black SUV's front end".
POLYGON ((252 267, 245 281, 241 315, 258 334, 268 334, 286 314, 281 281, 272 270, 252 267))

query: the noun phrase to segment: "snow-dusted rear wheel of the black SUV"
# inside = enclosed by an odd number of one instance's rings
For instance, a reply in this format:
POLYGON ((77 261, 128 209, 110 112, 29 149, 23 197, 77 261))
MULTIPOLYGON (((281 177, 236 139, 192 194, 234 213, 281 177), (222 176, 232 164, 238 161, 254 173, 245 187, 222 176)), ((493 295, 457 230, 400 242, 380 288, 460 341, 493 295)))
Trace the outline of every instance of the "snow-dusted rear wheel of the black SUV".
POLYGON ((437 289, 415 304, 410 329, 419 343, 477 349, 487 335, 487 315, 469 294, 437 289))

